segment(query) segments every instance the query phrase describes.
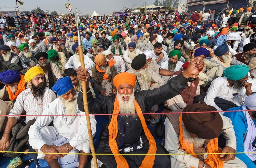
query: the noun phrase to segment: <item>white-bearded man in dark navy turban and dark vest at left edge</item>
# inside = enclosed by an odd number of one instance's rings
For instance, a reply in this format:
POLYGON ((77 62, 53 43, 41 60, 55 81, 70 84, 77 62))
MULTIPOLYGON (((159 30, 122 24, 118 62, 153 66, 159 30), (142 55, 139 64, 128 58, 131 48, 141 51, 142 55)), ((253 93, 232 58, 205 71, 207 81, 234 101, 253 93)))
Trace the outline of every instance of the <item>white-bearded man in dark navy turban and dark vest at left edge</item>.
POLYGON ((19 56, 10 52, 11 48, 9 46, 1 45, 0 52, 2 56, 0 57, 1 61, 10 61, 11 63, 18 64, 21 66, 19 56))

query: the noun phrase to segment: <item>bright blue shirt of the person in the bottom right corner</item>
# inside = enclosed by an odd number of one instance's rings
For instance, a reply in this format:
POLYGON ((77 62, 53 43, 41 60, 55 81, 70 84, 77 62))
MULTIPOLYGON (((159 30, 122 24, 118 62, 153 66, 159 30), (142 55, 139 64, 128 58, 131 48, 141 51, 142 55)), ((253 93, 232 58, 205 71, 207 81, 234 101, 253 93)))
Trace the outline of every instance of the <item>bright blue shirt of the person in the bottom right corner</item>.
MULTIPOLYGON (((228 111, 229 110, 243 110, 243 108, 242 106, 239 106, 230 108, 228 111)), ((244 152, 243 136, 247 131, 248 125, 243 111, 225 112, 223 116, 230 118, 232 125, 234 126, 235 136, 237 138, 237 152, 244 152)), ((256 121, 253 120, 253 122, 256 125, 256 121)), ((247 165, 247 167, 256 168, 256 165, 245 153, 236 154, 236 157, 242 160, 247 165)))

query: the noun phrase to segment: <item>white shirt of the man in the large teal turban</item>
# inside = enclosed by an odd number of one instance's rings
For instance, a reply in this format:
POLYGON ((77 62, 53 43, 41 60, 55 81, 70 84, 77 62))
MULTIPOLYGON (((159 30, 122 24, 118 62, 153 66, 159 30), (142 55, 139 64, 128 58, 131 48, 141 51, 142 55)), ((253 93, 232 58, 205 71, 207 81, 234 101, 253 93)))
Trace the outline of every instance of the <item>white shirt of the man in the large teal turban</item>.
MULTIPOLYGON (((204 99, 204 102, 210 106, 214 106, 218 111, 223 111, 221 108, 217 106, 217 104, 214 102, 215 97, 219 97, 221 99, 225 99, 228 101, 233 101, 234 96, 232 94, 239 93, 241 90, 234 89, 234 86, 229 87, 227 77, 219 77, 216 78, 211 82, 211 86, 209 87, 208 91, 206 92, 206 96, 204 99)), ((241 95, 241 97, 238 97, 237 95, 237 101, 244 102, 244 99, 247 97, 246 94, 241 95)), ((240 104, 241 105, 241 104, 240 104)), ((221 112, 223 114, 224 112, 221 112)))

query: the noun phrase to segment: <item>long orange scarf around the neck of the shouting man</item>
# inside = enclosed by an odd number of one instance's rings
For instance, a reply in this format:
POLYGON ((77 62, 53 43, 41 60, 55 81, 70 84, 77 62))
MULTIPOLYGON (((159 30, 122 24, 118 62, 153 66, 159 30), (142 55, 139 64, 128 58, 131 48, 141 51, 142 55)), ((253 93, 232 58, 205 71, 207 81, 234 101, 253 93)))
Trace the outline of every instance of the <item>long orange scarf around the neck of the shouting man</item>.
MULTIPOLYGON (((156 153, 155 139, 147 128, 147 124, 146 124, 145 119, 142 115, 140 105, 137 103, 136 100, 134 100, 134 103, 135 103, 135 110, 138 114, 138 117, 141 120, 141 125, 142 125, 143 130, 145 132, 145 135, 148 139, 149 149, 148 149, 147 154, 155 154, 156 153)), ((118 99, 116 97, 115 98, 115 103, 114 103, 113 114, 118 114, 119 110, 120 110, 119 102, 118 102, 118 99)), ((118 148, 118 146, 116 144, 116 140, 115 140, 115 138, 117 136, 117 132, 118 132, 117 117, 118 117, 118 115, 113 115, 112 116, 112 119, 111 119, 109 127, 108 127, 108 129, 109 129, 109 147, 110 147, 113 154, 119 154, 119 148, 118 148)), ((122 155, 114 155, 114 157, 115 157, 115 161, 116 161, 116 164, 117 164, 118 168, 120 168, 120 167, 128 168, 129 167, 127 161, 124 159, 124 157, 122 155)), ((143 159, 142 163, 141 163, 140 168, 142 168, 142 167, 153 167, 154 162, 155 162, 155 155, 146 155, 145 158, 143 159)))

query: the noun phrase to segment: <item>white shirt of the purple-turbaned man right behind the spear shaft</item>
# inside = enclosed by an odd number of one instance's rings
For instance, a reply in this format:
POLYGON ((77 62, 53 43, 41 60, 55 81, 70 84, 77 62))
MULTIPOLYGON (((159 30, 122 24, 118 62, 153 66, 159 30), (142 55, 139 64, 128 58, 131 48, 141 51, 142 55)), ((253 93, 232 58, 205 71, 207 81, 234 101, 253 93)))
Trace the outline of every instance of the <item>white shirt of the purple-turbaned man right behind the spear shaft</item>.
MULTIPOLYGON (((85 68, 87 68, 88 72, 92 74, 92 67, 95 65, 95 63, 88 57, 87 55, 83 54, 83 59, 84 59, 84 65, 85 68)), ((73 68, 73 69, 78 69, 78 67, 81 66, 80 60, 76 58, 76 55, 72 55, 68 62, 65 64, 65 69, 68 68, 73 68)))

